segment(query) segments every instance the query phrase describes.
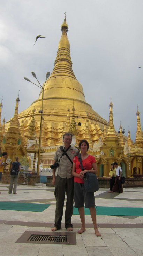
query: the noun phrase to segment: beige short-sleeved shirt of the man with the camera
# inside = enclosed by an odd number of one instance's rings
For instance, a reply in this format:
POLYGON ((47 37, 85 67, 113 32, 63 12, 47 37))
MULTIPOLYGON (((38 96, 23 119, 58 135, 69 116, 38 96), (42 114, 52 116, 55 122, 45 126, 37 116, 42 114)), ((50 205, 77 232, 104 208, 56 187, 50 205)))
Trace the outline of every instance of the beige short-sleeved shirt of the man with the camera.
MULTIPOLYGON (((63 146, 63 149, 65 147, 63 146)), ((56 162, 58 162, 58 160, 60 159, 60 157, 62 156, 62 153, 63 151, 58 148, 55 152, 55 155, 54 155, 54 160, 56 162)), ((66 152, 67 155, 70 157, 71 161, 73 160, 73 158, 75 156, 78 156, 79 154, 79 151, 78 149, 76 149, 75 147, 72 147, 70 146, 70 148, 68 149, 68 151, 66 152)), ((64 155, 61 159, 60 159, 60 162, 59 162, 59 167, 58 167, 58 175, 61 177, 61 178, 64 178, 64 179, 70 179, 72 178, 73 176, 71 175, 71 171, 72 171, 72 163, 70 162, 70 160, 67 158, 66 155, 64 155)))

